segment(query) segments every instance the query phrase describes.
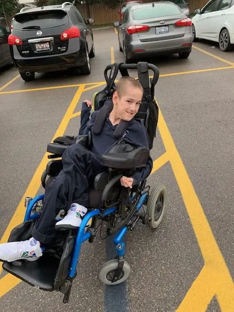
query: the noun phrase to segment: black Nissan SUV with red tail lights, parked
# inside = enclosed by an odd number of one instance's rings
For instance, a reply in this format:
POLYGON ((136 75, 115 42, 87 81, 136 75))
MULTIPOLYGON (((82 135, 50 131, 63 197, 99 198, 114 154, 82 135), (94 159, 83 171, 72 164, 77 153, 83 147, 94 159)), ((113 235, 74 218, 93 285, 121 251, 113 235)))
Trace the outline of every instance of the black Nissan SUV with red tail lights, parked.
POLYGON ((50 72, 74 67, 90 74, 89 58, 95 56, 89 24, 70 2, 37 8, 23 8, 15 15, 8 37, 11 56, 20 76, 33 80, 35 72, 50 72))

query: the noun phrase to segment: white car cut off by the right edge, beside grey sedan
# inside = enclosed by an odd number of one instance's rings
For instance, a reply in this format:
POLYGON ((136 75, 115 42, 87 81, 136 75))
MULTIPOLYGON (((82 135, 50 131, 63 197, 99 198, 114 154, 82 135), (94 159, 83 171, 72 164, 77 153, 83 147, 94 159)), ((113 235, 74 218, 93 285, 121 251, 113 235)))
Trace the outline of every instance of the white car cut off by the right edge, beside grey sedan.
POLYGON ((234 44, 234 0, 210 0, 195 13, 193 40, 201 38, 219 42, 221 51, 230 51, 234 44))

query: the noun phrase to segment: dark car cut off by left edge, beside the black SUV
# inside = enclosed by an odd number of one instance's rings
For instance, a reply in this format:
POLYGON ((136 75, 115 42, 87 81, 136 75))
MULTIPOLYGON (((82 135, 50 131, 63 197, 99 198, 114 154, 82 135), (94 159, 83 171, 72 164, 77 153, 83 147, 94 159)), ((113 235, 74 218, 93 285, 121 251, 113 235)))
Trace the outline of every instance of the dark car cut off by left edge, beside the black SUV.
POLYGON ((10 33, 10 27, 0 24, 0 67, 12 62, 9 45, 7 43, 10 33))

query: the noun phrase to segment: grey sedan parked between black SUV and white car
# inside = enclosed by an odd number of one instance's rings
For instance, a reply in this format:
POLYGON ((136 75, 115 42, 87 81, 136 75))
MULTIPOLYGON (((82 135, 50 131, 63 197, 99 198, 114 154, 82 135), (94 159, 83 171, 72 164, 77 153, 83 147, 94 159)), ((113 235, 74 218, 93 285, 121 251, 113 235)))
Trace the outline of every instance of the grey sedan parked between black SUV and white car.
POLYGON ((119 50, 125 62, 157 54, 178 53, 186 59, 192 50, 192 20, 172 2, 144 3, 126 10, 118 27, 119 50))

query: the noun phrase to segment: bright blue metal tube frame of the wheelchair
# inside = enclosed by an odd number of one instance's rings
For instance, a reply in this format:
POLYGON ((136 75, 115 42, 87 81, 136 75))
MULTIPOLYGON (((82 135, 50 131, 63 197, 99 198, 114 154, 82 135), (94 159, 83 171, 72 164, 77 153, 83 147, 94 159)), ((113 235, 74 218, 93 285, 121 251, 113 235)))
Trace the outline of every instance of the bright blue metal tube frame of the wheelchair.
MULTIPOLYGON (((137 211, 140 210, 140 208, 142 207, 142 205, 144 205, 146 199, 147 199, 147 195, 148 193, 144 193, 141 195, 138 203, 137 203, 137 211)), ((32 210, 34 205, 39 202, 40 200, 43 200, 44 195, 38 195, 36 197, 34 197, 27 206, 26 209, 26 213, 25 213, 25 217, 24 217, 24 222, 29 221, 31 219, 37 219, 39 218, 39 213, 34 213, 32 214, 32 210)), ((130 198, 132 199, 132 198, 130 198)), ((79 257, 79 252, 80 252, 80 248, 81 248, 81 244, 89 239, 91 237, 91 233, 89 232, 84 232, 85 230, 85 226, 88 223, 88 221, 94 217, 94 216, 100 216, 100 218, 102 219, 103 217, 113 214, 116 211, 117 207, 112 207, 112 208, 108 208, 106 209, 104 212, 101 212, 99 209, 95 209, 92 210, 91 212, 89 212, 87 215, 84 216, 79 229, 78 229, 78 234, 77 234, 77 238, 76 238, 76 243, 75 243, 75 248, 74 248, 74 252, 73 252, 73 257, 72 257, 72 261, 71 261, 71 266, 70 266, 70 271, 69 271, 69 277, 70 278, 75 278, 76 276, 76 268, 77 268, 77 263, 78 263, 78 257, 79 257)), ((118 231, 118 233, 114 236, 113 242, 114 245, 116 247, 116 251, 117 251, 117 255, 119 257, 124 256, 125 254, 125 243, 122 241, 123 236, 127 233, 127 226, 124 226, 122 229, 120 229, 118 231)))

